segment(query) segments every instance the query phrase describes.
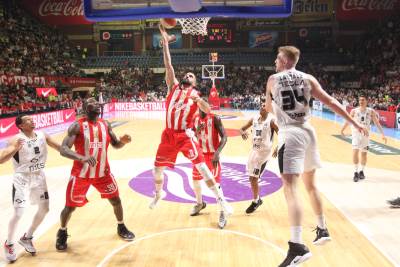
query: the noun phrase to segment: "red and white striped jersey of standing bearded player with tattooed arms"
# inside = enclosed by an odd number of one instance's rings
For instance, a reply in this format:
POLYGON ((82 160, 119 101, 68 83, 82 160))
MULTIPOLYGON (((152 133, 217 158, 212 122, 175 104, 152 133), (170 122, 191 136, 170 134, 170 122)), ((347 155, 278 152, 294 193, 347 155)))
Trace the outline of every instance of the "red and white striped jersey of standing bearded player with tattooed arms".
POLYGON ((75 139, 75 151, 82 156, 91 155, 95 157, 97 164, 91 167, 88 163, 74 161, 71 175, 80 178, 100 178, 108 175, 110 173, 107 158, 107 150, 110 144, 108 124, 102 119, 93 123, 85 117, 77 122, 80 126, 80 132, 75 139))

